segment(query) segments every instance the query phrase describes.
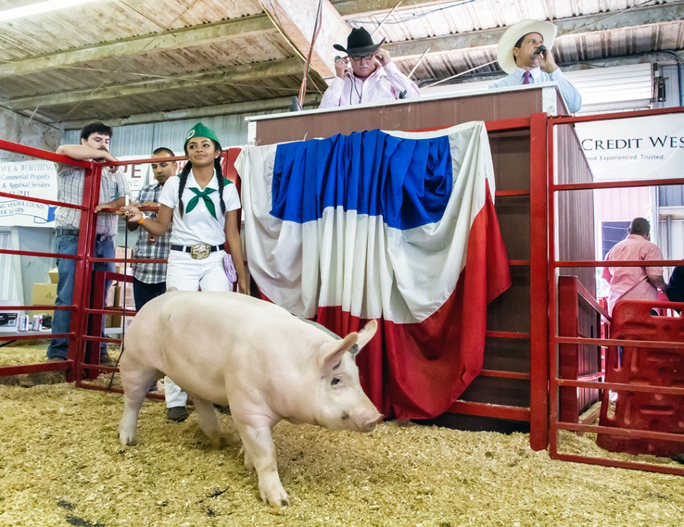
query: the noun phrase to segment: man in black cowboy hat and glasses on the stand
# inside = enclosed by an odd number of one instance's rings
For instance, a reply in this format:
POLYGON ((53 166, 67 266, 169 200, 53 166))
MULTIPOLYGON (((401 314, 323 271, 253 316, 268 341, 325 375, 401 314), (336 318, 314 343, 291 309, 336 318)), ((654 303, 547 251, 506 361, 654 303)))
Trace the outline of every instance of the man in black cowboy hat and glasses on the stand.
POLYGON ((374 44, 365 28, 353 28, 346 49, 334 44, 347 56, 336 59, 337 76, 325 90, 319 108, 420 97, 417 85, 397 69, 389 52, 380 48, 384 41, 374 44))

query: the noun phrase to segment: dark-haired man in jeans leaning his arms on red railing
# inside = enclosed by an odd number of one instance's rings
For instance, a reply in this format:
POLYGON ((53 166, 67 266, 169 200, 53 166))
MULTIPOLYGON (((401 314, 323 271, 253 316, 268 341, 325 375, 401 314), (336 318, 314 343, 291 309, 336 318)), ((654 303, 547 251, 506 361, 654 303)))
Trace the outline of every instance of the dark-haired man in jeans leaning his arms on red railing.
MULTIPOLYGON (((72 159, 91 159, 98 162, 116 162, 117 159, 109 153, 109 141, 112 130, 103 123, 90 123, 83 127, 80 134, 80 145, 62 145, 57 149, 58 154, 67 155, 72 159)), ((85 183, 85 169, 68 164, 56 164, 57 169, 57 200, 70 205, 83 203, 83 186, 85 183)), ((99 204, 94 212, 97 214, 95 229, 95 247, 93 258, 115 258, 114 236, 118 230, 118 217, 114 212, 102 212, 104 209, 116 209, 126 204, 128 182, 117 170, 117 166, 105 166, 102 169, 102 179, 99 188, 99 204)), ((71 207, 57 207, 55 212, 55 244, 56 252, 63 255, 75 255, 78 250, 78 236, 81 211, 71 207)), ((57 298, 55 305, 73 304, 73 283, 76 272, 76 260, 73 258, 57 258, 57 298)), ((96 262, 94 271, 112 271, 111 262, 96 262)), ((111 280, 105 284, 104 295, 111 285, 111 280)), ((52 333, 68 333, 71 330, 71 311, 55 310, 52 317, 52 333)), ((47 349, 48 362, 66 361, 68 351, 67 337, 52 339, 47 349)), ((116 363, 107 352, 106 342, 100 345, 99 363, 113 367, 116 363)))

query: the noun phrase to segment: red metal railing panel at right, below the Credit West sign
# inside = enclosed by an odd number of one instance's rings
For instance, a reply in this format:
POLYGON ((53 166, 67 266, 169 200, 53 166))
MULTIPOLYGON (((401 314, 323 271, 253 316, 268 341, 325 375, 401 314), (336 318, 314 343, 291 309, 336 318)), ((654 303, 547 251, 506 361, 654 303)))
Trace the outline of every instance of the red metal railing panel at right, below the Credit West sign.
MULTIPOLYGON (((662 394, 662 395, 676 395, 684 397, 684 388, 656 386, 649 384, 624 384, 622 382, 606 382, 605 380, 605 361, 603 359, 602 351, 608 349, 608 346, 638 346, 641 349, 666 349, 666 350, 684 350, 684 343, 676 340, 631 340, 631 339, 611 339, 610 334, 606 332, 597 332, 595 336, 578 334, 578 305, 584 303, 589 310, 594 310, 597 319, 602 320, 602 327, 609 325, 610 317, 604 308, 595 300, 594 294, 591 291, 582 291, 582 288, 574 287, 568 280, 570 277, 559 277, 559 269, 566 267, 604 267, 604 262, 596 260, 560 260, 556 256, 558 254, 558 234, 562 232, 562 226, 558 226, 558 217, 556 215, 556 198, 559 193, 573 192, 578 190, 590 190, 601 188, 625 188, 636 186, 664 186, 664 185, 680 185, 684 183, 684 178, 668 178, 668 179, 647 179, 640 181, 610 181, 610 182, 590 182, 590 183, 556 183, 556 176, 554 174, 554 131, 556 126, 573 125, 574 123, 602 121, 602 120, 619 120, 629 119, 634 117, 657 116, 664 114, 681 114, 684 113, 684 108, 676 109, 659 109, 651 111, 634 111, 624 112, 620 114, 604 114, 600 116, 582 116, 582 117, 552 117, 548 120, 548 196, 549 203, 549 267, 548 267, 548 356, 549 356, 549 426, 550 426, 550 448, 549 453, 554 459, 563 459, 566 461, 579 461, 582 463, 599 464, 604 466, 614 466, 620 468, 637 468, 645 471, 655 471, 660 473, 684 475, 684 467, 673 464, 652 464, 647 461, 623 461, 620 459, 611 459, 609 454, 580 455, 568 454, 561 452, 561 442, 559 441, 559 433, 561 430, 568 430, 584 434, 586 432, 594 434, 606 434, 611 436, 625 436, 631 438, 645 438, 656 441, 674 441, 682 444, 682 452, 684 452, 684 435, 662 432, 656 430, 637 430, 633 428, 614 428, 612 426, 601 426, 595 423, 596 414, 598 411, 592 412, 589 416, 585 416, 580 423, 578 418, 579 407, 577 399, 570 394, 577 393, 579 390, 597 390, 602 394, 601 399, 603 404, 607 404, 609 391, 615 392, 635 392, 646 394, 662 394), (573 334, 574 332, 574 334, 573 334), (599 363, 600 370, 593 372, 590 375, 580 375, 578 371, 571 371, 568 375, 567 363, 568 349, 576 350, 580 346, 590 346, 595 349, 599 363), (576 374, 576 375, 575 375, 576 374)), ((580 233, 569 233, 567 235, 580 236, 580 233)), ((679 265, 680 260, 659 260, 650 261, 652 265, 679 265)), ((613 267, 642 267, 643 262, 637 261, 622 261, 611 262, 613 267)), ((677 307, 676 304, 668 304, 672 307, 677 307)), ((682 307, 681 305, 679 307, 682 307)), ((597 327, 601 327, 601 322, 597 322, 597 327)), ((574 355, 574 351, 570 351, 570 356, 574 355)), ((682 353, 684 355, 684 353, 682 353)), ((576 358, 576 356, 575 356, 576 358)), ((604 408, 605 409, 605 408, 604 408)), ((647 452, 644 452, 647 454, 647 452)))

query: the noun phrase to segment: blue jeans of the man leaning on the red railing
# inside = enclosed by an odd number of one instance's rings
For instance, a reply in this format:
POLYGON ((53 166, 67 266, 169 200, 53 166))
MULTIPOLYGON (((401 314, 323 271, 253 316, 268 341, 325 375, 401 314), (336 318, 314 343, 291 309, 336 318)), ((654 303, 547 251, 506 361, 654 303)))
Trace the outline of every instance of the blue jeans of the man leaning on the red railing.
MULTIPOLYGON (((56 236, 57 253, 63 255, 75 255, 78 249, 78 236, 56 236)), ((114 258, 114 240, 95 241, 93 258, 114 258)), ((95 271, 114 271, 114 262, 97 262, 94 264, 95 271)), ((71 258, 57 258, 57 270, 59 279, 57 280, 57 298, 54 305, 73 304, 73 281, 76 273, 76 260, 71 258)), ((111 286, 111 280, 106 280, 104 285, 104 296, 111 286)), ((103 320, 104 327, 104 320, 103 320)), ((71 329, 71 310, 55 310, 52 317, 52 333, 68 333, 71 329)), ((104 332, 103 332, 104 335, 104 332)), ((66 359, 69 346, 69 339, 61 337, 52 339, 47 349, 47 358, 59 357, 66 359)), ((107 354, 107 344, 100 344, 100 353, 107 354)))

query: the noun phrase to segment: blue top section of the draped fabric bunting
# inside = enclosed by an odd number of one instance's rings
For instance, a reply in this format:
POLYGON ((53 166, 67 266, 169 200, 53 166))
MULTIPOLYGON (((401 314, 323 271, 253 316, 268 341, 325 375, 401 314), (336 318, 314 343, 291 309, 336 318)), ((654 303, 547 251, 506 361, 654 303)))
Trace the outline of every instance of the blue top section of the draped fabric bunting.
POLYGON ((396 138, 379 130, 279 145, 271 214, 316 221, 328 207, 381 216, 396 229, 441 219, 453 186, 448 137, 396 138))

